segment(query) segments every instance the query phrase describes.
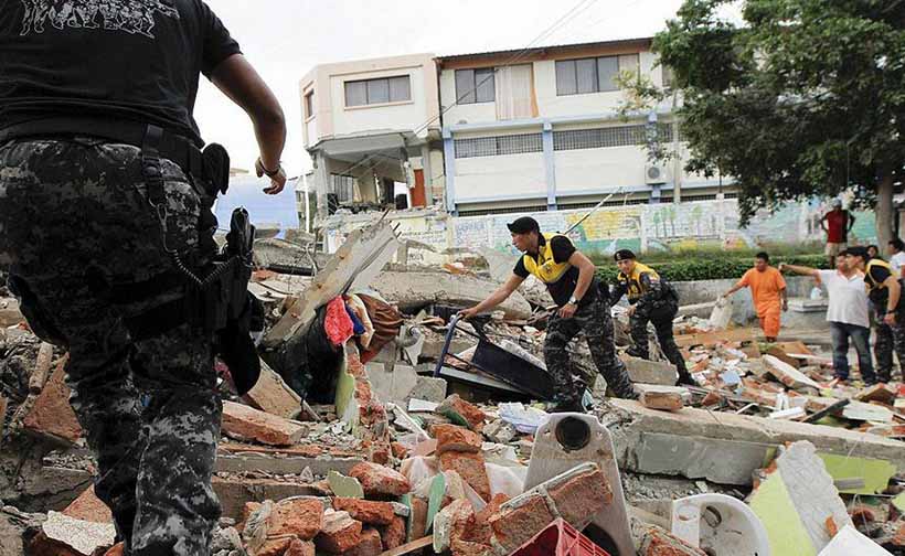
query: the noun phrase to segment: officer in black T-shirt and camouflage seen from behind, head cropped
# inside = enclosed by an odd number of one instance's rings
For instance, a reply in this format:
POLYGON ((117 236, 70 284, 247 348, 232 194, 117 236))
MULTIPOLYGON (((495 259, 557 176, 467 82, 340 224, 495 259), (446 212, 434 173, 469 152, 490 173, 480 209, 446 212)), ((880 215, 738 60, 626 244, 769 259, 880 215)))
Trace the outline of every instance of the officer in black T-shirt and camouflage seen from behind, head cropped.
MULTIPOLYGON (((283 190, 274 95, 202 0, 0 0, 0 266, 34 332, 70 353, 97 495, 130 555, 210 554, 221 402, 215 331, 182 318, 228 181, 192 117, 204 74, 251 117, 283 190), (136 10, 141 18, 135 18, 136 10)), ((216 307, 214 307, 216 309, 216 307)))

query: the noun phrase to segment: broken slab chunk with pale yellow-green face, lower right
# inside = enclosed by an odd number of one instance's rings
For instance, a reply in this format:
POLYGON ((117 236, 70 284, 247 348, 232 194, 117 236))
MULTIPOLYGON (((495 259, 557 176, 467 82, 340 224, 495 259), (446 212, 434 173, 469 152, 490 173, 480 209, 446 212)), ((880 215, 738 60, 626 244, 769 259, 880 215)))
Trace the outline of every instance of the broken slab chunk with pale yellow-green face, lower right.
POLYGON ((842 499, 810 442, 795 442, 776 458, 775 469, 752 493, 774 556, 813 556, 832 538, 828 523, 851 525, 842 499))

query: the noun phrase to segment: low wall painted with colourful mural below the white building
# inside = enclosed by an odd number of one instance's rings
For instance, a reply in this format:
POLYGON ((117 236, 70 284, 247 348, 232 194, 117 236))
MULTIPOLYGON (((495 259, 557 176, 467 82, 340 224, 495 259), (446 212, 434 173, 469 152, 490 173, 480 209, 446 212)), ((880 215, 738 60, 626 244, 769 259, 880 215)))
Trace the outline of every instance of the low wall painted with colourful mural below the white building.
MULTIPOLYGON (((790 204, 770 214, 763 211, 742 228, 735 200, 681 204, 646 204, 600 209, 569 233, 586 253, 615 253, 617 249, 683 250, 696 247, 736 249, 775 244, 823 242, 820 218, 829 211, 826 202, 790 204)), ((564 232, 579 222, 588 210, 529 213, 544 232, 564 232)), ((430 246, 437 255, 448 248, 511 250, 507 223, 524 214, 451 217, 440 212, 397 213, 390 216, 398 224, 404 239, 430 246)), ((855 212, 850 243, 876 242, 872 212, 855 212)), ((352 229, 364 225, 361 215, 337 217, 328 225, 330 250, 336 250, 352 229)), ((429 252, 428 252, 429 253, 429 252)), ((427 253, 409 252, 412 261, 430 263, 427 253), (423 259, 423 260, 422 260, 423 259)))

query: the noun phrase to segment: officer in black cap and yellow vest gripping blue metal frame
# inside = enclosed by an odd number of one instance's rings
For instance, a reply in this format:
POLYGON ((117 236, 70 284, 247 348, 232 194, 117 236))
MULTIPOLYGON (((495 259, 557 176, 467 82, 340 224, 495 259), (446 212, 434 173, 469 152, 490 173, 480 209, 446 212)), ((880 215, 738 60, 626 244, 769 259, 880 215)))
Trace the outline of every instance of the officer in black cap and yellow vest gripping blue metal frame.
POLYGON ((551 317, 544 341, 544 360, 553 377, 555 399, 551 411, 583 411, 582 396, 586 384, 572 372, 566 345, 585 333, 590 355, 607 386, 620 398, 635 399, 625 364, 616 356, 613 317, 606 288, 600 288, 594 263, 578 252, 568 237, 542 234, 534 218, 523 216, 508 224, 512 245, 524 255, 512 276, 477 306, 461 311, 466 319, 502 303, 529 275, 546 285, 558 310, 551 317))

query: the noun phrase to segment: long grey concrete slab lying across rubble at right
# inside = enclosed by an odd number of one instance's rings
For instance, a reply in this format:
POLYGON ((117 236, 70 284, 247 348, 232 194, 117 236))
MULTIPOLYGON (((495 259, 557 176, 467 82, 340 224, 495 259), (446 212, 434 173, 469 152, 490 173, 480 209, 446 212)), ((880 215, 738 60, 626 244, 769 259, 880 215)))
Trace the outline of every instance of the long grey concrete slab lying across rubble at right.
MULTIPOLYGON (((762 453, 767 453, 766 447, 752 445, 778 447, 797 440, 811 441, 821 453, 876 458, 890 461, 898 470, 905 470, 905 443, 856 430, 728 413, 717 414, 691 407, 678 413, 663 413, 625 399, 613 399, 610 404, 622 411, 618 417, 620 423, 609 427, 609 430, 613 434, 619 467, 628 471, 653 472, 648 470, 649 467, 643 468, 639 464, 639 450, 645 455, 646 450, 651 449, 651 442, 659 442, 654 446, 664 446, 664 442, 683 446, 688 445, 689 438, 692 438, 696 446, 681 448, 681 452, 690 455, 691 459, 686 462, 678 459, 671 462, 670 474, 701 478, 700 470, 704 469, 709 479, 722 478, 721 480, 728 484, 739 484, 736 481, 741 481, 743 477, 750 477, 763 467, 763 463, 758 464, 757 461, 762 460, 762 453), (662 435, 668 438, 652 437, 646 440, 646 435, 662 435), (643 448, 646 441, 648 448, 643 448), (695 453, 693 450, 703 453, 695 453)), ((610 420, 617 418, 609 413, 603 414, 603 417, 610 420)), ((741 484, 750 484, 750 480, 741 484)))

